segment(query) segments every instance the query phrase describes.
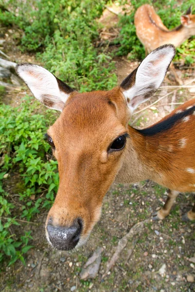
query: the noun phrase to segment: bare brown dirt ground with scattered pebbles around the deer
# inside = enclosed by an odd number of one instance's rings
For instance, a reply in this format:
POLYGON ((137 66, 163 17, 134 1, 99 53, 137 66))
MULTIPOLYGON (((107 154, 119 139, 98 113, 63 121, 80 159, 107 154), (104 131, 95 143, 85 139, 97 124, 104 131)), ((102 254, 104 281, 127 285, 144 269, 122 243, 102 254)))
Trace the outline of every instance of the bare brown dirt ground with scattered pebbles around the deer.
MULTIPOLYGON (((4 50, 12 57, 12 61, 35 63, 33 55, 22 55, 16 45, 12 44, 13 31, 8 31, 6 34, 7 47, 4 47, 4 50)), ((118 57, 115 61, 119 83, 138 66, 137 61, 130 63, 125 57, 118 57)), ((178 73, 184 83, 195 78, 194 70, 178 71, 178 73)), ((163 85, 176 85, 171 79, 171 73, 163 85)), ((173 89, 160 89, 137 111, 150 106, 171 91, 173 89)), ((28 91, 25 86, 20 90, 9 90, 4 100, 16 106, 26 92, 28 91)), ((131 125, 135 128, 149 126, 177 107, 179 103, 195 97, 194 95, 195 93, 187 89, 177 88, 158 104, 134 114, 131 125)), ((13 189, 14 183, 10 183, 11 195, 13 189)), ((151 219, 145 224, 142 233, 138 233, 128 241, 113 269, 106 274, 106 277, 102 277, 119 240, 137 222, 152 218, 152 213, 163 205, 166 198, 166 189, 151 181, 133 185, 114 183, 104 198, 102 217, 95 226, 89 242, 74 253, 54 253, 45 238, 44 222, 47 213, 35 216, 33 222, 22 224, 25 231, 32 231, 31 244, 34 245, 34 248, 26 254, 26 266, 18 261, 2 271, 0 291, 195 291, 195 264, 190 261, 190 258, 195 256, 195 223, 181 220, 182 214, 193 206, 192 194, 180 194, 170 216, 163 221, 151 219), (81 269, 98 246, 104 248, 99 273, 95 279, 83 281, 79 275, 81 269)))

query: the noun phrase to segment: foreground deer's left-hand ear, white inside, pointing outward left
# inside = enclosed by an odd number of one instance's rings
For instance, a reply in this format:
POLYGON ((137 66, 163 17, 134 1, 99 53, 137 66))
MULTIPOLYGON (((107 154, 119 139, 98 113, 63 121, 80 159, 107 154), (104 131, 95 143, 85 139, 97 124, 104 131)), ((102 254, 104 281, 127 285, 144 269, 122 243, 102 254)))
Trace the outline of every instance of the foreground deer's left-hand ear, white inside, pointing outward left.
POLYGON ((46 107, 60 111, 64 109, 65 103, 73 91, 71 87, 38 65, 19 64, 16 66, 16 72, 35 98, 46 107))

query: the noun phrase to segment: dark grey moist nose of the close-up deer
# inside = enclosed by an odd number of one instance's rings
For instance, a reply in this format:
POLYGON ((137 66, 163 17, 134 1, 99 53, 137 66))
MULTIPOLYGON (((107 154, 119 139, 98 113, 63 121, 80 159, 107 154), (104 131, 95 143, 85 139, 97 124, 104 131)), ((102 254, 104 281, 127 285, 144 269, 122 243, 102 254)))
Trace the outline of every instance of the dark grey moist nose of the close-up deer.
POLYGON ((82 220, 79 218, 74 220, 73 224, 69 227, 53 226, 51 221, 50 219, 50 224, 47 224, 47 231, 53 247, 60 251, 73 249, 77 245, 81 235, 83 227, 82 220))

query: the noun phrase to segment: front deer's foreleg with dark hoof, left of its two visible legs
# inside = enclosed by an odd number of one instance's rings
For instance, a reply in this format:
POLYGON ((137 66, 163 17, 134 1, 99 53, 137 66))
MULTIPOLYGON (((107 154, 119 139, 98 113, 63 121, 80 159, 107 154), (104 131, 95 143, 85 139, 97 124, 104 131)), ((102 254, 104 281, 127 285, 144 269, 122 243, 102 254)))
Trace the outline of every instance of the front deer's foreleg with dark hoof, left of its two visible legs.
POLYGON ((153 214, 153 216, 154 216, 153 220, 162 220, 166 216, 169 215, 171 208, 173 206, 173 203, 175 202, 178 194, 179 194, 179 192, 177 192, 177 191, 168 190, 168 198, 167 198, 164 206, 158 212, 153 214))

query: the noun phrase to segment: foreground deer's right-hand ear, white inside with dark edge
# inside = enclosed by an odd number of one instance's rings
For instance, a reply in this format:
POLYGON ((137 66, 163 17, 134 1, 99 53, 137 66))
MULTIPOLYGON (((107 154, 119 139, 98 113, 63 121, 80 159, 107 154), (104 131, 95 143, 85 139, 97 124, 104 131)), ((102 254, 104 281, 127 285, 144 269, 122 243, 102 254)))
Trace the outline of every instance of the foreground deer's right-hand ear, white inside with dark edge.
POLYGON ((130 113, 158 90, 175 53, 175 47, 171 44, 157 48, 124 79, 121 91, 130 113))

